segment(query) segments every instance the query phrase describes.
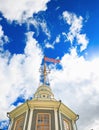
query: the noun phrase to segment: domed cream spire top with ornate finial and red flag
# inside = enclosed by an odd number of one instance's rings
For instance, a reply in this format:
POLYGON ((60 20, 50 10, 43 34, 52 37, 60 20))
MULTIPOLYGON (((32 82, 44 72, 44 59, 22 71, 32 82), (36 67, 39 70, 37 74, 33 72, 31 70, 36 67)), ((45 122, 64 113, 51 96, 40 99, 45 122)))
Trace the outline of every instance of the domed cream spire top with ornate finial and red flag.
POLYGON ((59 63, 60 61, 44 56, 44 64, 40 68, 41 81, 43 82, 43 84, 39 86, 37 91, 35 92, 34 100, 54 100, 54 94, 52 93, 50 86, 47 87, 47 85, 49 84, 47 81, 47 76, 50 73, 50 69, 47 67, 46 62, 59 63))

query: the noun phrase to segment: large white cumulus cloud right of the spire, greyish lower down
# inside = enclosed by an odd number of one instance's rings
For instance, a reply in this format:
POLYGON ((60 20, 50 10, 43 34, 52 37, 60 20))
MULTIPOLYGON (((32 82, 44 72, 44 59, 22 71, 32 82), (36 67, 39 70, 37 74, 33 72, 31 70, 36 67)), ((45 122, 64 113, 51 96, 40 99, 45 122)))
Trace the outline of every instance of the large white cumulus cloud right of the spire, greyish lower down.
POLYGON ((78 129, 99 128, 99 58, 86 61, 76 49, 61 60, 62 70, 52 69, 50 78, 55 97, 80 115, 78 129), (83 123, 82 123, 83 122, 83 123), (91 125, 90 125, 91 124, 91 125))

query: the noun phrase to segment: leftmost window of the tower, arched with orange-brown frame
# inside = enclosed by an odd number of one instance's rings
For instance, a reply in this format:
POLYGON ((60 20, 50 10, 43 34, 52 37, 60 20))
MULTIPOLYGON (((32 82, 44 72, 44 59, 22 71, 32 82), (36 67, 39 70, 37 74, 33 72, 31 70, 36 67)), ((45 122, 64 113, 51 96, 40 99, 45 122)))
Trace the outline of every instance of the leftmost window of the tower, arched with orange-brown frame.
POLYGON ((14 130, 23 130, 24 116, 19 117, 15 122, 14 130))

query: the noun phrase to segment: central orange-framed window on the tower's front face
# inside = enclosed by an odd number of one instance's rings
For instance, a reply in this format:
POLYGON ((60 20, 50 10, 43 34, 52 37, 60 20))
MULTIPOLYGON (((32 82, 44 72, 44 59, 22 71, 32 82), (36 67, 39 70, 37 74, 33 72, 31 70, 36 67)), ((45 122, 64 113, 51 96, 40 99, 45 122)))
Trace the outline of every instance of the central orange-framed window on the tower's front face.
POLYGON ((50 130, 50 115, 40 113, 37 115, 36 130, 50 130))

